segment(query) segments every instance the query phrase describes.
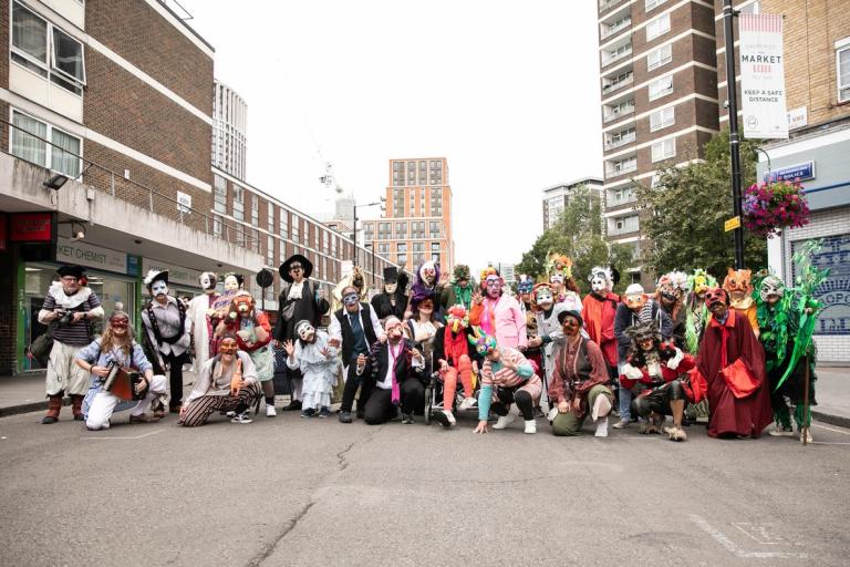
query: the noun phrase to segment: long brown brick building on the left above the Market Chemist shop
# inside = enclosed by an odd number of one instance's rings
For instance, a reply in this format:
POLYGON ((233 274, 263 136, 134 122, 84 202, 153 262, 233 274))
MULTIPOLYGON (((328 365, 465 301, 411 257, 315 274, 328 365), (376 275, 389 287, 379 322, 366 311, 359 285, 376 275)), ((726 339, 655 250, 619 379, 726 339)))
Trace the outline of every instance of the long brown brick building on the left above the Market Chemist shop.
POLYGON ((86 266, 104 308, 134 318, 149 268, 188 296, 201 270, 239 271, 272 309, 293 251, 335 282, 349 238, 211 166, 215 51, 166 4, 0 0, 0 374, 33 368, 24 349, 59 264, 86 266), (43 185, 59 174, 61 188, 43 185), (33 237, 29 213, 46 243, 18 241, 33 237), (263 267, 276 277, 261 295, 263 267))

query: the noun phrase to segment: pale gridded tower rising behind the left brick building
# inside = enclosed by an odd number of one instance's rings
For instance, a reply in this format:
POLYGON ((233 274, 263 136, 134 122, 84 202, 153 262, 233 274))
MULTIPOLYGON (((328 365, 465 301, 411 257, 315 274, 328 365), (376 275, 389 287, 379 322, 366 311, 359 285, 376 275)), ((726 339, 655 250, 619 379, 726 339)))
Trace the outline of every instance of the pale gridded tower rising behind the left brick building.
POLYGON ((212 94, 212 165, 245 179, 248 145, 248 105, 219 80, 212 94))

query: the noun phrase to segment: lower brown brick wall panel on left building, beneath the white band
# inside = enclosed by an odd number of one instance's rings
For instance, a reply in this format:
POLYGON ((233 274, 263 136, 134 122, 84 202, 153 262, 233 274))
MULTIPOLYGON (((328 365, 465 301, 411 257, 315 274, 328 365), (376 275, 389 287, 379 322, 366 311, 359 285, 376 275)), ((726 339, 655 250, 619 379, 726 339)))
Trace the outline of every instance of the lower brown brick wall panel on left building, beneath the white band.
MULTIPOLYGON (((212 183, 211 125, 94 50, 86 51, 86 72, 89 86, 83 102, 86 126, 212 183)), ((195 76, 203 78, 197 73, 195 76)))

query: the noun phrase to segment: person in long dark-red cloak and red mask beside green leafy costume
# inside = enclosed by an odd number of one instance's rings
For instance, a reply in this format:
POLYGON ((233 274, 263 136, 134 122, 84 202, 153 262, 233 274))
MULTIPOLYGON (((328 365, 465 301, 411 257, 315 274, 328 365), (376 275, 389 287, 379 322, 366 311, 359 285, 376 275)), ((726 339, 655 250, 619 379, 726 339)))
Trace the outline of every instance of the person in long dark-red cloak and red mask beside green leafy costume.
POLYGON ((699 344, 696 369, 707 383, 708 435, 758 437, 773 421, 765 351, 749 318, 729 308, 726 290, 709 289, 705 302, 712 318, 699 344))

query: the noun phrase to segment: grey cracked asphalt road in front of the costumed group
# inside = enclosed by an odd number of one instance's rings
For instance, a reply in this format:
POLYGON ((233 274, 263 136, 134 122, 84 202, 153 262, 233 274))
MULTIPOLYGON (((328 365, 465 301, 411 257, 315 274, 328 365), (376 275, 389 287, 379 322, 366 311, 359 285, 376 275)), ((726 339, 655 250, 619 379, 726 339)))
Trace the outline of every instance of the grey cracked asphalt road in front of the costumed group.
POLYGON ((0 565, 848 565, 850 430, 0 420, 0 565))

